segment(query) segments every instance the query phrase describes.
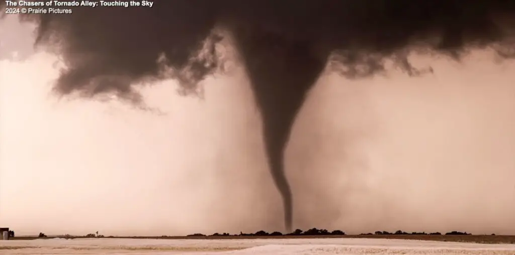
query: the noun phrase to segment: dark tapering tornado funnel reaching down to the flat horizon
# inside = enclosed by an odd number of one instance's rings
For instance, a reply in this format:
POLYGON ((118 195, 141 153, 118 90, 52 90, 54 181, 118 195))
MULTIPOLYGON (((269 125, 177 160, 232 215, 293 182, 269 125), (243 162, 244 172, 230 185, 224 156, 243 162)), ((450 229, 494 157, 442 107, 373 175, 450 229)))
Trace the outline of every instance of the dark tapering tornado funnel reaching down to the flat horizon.
POLYGON ((293 196, 284 171, 284 151, 306 94, 325 59, 312 42, 288 41, 273 33, 235 33, 263 121, 263 139, 270 173, 284 206, 286 231, 293 223, 293 196))

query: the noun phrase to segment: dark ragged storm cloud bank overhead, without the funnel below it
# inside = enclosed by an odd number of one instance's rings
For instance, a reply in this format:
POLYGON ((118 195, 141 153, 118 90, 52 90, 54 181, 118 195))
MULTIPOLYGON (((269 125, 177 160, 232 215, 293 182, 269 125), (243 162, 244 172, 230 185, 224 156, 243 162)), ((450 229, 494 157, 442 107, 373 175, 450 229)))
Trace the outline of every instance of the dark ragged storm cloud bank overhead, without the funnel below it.
POLYGON ((392 54, 410 70, 402 57, 407 49, 458 56, 467 46, 502 43, 513 35, 514 6, 508 0, 174 0, 25 17, 39 24, 38 44, 58 46, 63 54, 68 68, 56 84, 59 92, 127 95, 135 81, 163 78, 156 61, 161 53, 171 67, 193 65, 190 77, 181 76, 185 86, 210 74, 216 61, 191 57, 216 24, 246 30, 245 37, 261 37, 269 46, 302 42, 323 59, 336 50, 345 74, 355 77, 382 70, 392 54))

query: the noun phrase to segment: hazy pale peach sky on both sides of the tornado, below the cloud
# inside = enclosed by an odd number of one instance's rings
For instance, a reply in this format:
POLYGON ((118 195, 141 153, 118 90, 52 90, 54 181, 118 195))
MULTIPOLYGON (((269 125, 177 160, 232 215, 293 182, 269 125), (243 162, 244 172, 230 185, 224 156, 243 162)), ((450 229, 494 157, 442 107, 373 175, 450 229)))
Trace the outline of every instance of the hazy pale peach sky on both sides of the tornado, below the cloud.
MULTIPOLYGON (((59 100, 62 64, 0 21, 0 225, 16 234, 281 230, 243 71, 205 99, 143 90, 165 115, 59 100), (13 53, 18 51, 18 53, 13 53), (5 59, 10 56, 9 59, 5 59), (28 57, 28 58, 24 58, 28 57)), ((515 234, 515 63, 416 57, 434 75, 322 77, 287 151, 294 228, 515 234), (510 71, 511 70, 511 71, 510 71)))

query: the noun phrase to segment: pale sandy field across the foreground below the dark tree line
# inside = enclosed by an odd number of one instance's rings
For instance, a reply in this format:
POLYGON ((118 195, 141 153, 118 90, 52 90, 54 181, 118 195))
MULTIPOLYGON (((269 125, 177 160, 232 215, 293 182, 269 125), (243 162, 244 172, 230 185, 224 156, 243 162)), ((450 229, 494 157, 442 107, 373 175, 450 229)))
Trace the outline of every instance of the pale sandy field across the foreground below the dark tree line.
POLYGON ((386 239, 49 239, 0 241, 0 254, 515 254, 513 244, 386 239))

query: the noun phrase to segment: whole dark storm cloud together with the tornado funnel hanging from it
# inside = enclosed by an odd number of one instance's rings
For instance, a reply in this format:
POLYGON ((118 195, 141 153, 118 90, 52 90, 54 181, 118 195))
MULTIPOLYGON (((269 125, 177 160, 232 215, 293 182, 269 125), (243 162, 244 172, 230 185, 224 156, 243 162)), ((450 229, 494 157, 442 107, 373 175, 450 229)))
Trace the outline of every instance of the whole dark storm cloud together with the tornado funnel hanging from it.
POLYGON ((293 199, 283 150, 304 96, 328 61, 356 79, 384 73, 388 62, 410 76, 431 71, 412 66, 411 52, 454 60, 472 48, 494 48, 501 58, 515 55, 513 1, 176 0, 71 10, 21 15, 38 25, 37 44, 55 50, 67 65, 55 83, 59 95, 109 93, 141 105, 135 84, 168 78, 178 79, 183 92, 195 93, 223 62, 213 46, 219 40, 213 29, 232 33, 263 115, 288 230, 293 199), (175 71, 163 72, 164 67, 175 71))

